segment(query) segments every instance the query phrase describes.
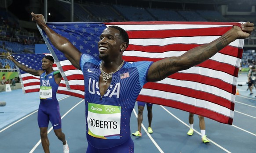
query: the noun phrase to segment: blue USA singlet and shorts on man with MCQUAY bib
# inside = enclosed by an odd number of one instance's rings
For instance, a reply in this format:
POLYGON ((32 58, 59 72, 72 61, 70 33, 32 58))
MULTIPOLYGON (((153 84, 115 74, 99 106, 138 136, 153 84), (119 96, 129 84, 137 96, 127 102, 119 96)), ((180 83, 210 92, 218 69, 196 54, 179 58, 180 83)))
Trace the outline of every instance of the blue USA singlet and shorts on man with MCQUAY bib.
POLYGON ((40 128, 48 127, 49 121, 54 129, 61 128, 59 102, 56 98, 59 85, 55 82, 54 72, 48 75, 44 72, 40 75, 40 105, 37 116, 40 128))

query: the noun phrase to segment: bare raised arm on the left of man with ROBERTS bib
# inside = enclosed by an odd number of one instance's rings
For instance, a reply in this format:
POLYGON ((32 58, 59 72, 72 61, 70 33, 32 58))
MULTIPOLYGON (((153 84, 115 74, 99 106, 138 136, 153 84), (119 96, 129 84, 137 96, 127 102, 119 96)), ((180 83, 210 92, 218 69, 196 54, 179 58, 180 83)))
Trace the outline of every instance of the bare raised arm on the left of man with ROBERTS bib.
POLYGON ((56 32, 54 32, 51 28, 49 28, 44 20, 44 16, 42 14, 34 14, 32 15, 32 21, 36 21, 37 25, 40 26, 44 30, 44 32, 47 34, 48 38, 50 39, 51 43, 62 53, 64 53, 65 57, 73 64, 74 67, 77 69, 80 68, 80 57, 82 53, 80 53, 79 50, 75 46, 73 46, 72 43, 69 42, 68 39, 66 39, 63 36, 60 36, 56 32))

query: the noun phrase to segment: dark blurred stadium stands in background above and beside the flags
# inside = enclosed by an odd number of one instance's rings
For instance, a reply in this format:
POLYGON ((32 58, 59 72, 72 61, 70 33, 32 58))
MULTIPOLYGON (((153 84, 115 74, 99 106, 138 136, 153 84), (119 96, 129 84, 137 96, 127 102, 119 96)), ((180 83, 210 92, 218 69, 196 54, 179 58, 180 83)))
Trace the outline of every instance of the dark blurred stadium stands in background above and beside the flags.
MULTIPOLYGON (((35 53, 44 44, 30 12, 63 21, 250 21, 256 0, 0 0, 0 70, 15 69, 7 52, 35 53), (45 9, 47 5, 47 12, 45 9), (73 16, 70 12, 73 11, 73 16), (45 13, 46 12, 46 13, 45 13)), ((256 33, 245 39, 241 68, 255 65, 256 33)))

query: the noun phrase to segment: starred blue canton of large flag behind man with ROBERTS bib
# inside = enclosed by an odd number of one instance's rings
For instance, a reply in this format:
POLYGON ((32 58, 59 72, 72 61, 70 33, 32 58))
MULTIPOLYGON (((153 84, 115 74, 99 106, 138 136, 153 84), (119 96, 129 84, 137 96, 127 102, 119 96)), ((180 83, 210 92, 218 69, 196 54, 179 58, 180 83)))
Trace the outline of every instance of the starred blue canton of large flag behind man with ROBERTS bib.
MULTIPOLYGON (((106 28, 102 23, 47 23, 47 25, 59 35, 66 37, 81 53, 87 53, 99 59, 98 42, 99 36, 106 28)), ((43 31, 44 36, 50 42, 48 36, 43 31)), ((57 50, 52 44, 52 49, 56 54, 60 54, 60 61, 66 60, 63 53, 57 50)))

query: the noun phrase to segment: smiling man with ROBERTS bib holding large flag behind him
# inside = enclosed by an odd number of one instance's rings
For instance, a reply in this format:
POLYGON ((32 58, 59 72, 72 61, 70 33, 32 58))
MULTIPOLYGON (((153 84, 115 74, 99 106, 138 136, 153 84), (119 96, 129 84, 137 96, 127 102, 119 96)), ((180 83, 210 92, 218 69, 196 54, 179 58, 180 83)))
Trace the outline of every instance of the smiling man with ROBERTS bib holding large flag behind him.
POLYGON ((133 153, 130 117, 139 92, 147 82, 160 81, 177 71, 185 70, 209 59, 235 39, 245 39, 253 23, 233 26, 211 43, 191 49, 179 57, 157 62, 125 62, 122 59, 129 38, 117 26, 105 28, 98 42, 99 58, 80 53, 72 43, 49 28, 42 14, 32 21, 44 30, 51 43, 84 75, 87 153, 133 153))

